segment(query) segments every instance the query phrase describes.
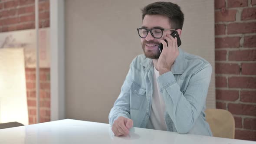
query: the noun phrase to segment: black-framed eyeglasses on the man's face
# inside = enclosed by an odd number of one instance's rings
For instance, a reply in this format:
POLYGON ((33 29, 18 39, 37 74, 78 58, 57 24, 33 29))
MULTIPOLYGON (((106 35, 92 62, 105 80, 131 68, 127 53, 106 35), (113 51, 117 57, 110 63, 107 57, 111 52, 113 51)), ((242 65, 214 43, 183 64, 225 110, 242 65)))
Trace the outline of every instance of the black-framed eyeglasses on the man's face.
POLYGON ((161 29, 161 28, 157 28, 157 29, 138 28, 137 29, 138 34, 141 38, 147 37, 148 32, 150 31, 151 35, 156 39, 160 39, 163 36, 164 30, 175 30, 175 29, 161 29))

